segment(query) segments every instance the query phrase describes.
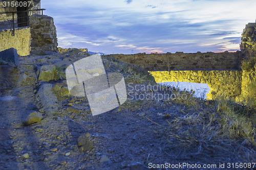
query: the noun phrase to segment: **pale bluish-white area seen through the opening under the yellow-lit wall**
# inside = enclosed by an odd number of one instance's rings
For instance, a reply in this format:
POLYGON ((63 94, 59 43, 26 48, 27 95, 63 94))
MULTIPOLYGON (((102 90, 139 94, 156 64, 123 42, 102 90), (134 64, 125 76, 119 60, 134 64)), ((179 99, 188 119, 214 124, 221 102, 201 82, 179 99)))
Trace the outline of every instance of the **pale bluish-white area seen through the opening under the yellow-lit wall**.
POLYGON ((195 96, 197 98, 204 98, 206 99, 206 94, 210 91, 210 87, 208 84, 203 83, 191 83, 191 82, 165 82, 165 83, 159 83, 161 85, 167 85, 167 86, 174 86, 176 88, 179 88, 181 90, 186 89, 187 91, 190 91, 191 89, 195 90, 195 96))

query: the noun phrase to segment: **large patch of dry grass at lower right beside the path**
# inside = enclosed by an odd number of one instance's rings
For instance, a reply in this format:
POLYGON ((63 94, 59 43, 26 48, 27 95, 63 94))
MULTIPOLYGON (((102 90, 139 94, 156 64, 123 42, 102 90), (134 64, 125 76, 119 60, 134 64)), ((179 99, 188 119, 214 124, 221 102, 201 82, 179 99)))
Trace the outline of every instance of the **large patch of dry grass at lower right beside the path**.
POLYGON ((160 127, 156 132, 169 143, 170 147, 165 152, 170 154, 176 148, 182 148, 183 157, 185 153, 201 155, 203 159, 216 155, 223 157, 224 153, 233 152, 240 146, 241 161, 250 162, 255 158, 255 121, 251 114, 247 114, 252 110, 224 98, 211 104, 199 101, 189 105, 193 101, 192 97, 187 101, 178 100, 178 104, 186 107, 178 108, 179 114, 167 119, 165 125, 150 119, 160 127))

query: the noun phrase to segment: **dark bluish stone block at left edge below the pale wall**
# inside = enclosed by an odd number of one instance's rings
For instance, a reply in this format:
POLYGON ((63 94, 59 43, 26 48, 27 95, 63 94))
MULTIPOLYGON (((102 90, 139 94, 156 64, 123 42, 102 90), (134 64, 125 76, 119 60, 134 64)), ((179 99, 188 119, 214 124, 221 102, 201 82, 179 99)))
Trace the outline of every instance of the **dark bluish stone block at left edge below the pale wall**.
POLYGON ((6 62, 14 63, 16 66, 19 65, 18 63, 18 53, 15 48, 9 48, 0 52, 0 59, 6 62))

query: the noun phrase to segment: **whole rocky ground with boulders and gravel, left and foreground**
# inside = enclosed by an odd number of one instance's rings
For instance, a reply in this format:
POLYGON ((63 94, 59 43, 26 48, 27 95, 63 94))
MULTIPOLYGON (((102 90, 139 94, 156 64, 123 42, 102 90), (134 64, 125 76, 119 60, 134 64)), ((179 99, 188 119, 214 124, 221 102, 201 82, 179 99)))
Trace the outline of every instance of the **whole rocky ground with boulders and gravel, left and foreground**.
MULTIPOLYGON (((217 164, 208 169, 227 169, 219 168, 219 163, 241 162, 244 150, 255 151, 242 141, 228 145, 198 141, 182 147, 180 140, 168 135, 169 123, 177 117, 215 112, 212 103, 202 101, 200 110, 170 100, 139 100, 140 94, 163 91, 135 90, 136 85, 144 87, 148 82, 129 75, 125 76, 127 101, 93 116, 86 98, 69 95, 63 74, 71 62, 85 56, 71 52, 19 57, 20 66, 8 76, 1 75, 0 169, 179 169, 148 168, 151 163, 217 164), (42 75, 42 66, 49 64, 56 71, 52 68, 50 76, 42 75)), ((106 72, 124 74, 106 59, 103 62, 106 72)))

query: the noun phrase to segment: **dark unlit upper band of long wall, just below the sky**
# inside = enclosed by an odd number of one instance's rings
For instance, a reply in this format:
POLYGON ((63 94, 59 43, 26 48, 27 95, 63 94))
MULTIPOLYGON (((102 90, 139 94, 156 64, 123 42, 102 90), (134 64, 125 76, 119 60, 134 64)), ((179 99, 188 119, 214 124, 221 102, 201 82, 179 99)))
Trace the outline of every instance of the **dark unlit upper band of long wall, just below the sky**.
POLYGON ((207 70, 207 69, 239 69, 240 51, 224 53, 183 53, 175 54, 112 54, 106 57, 114 57, 128 63, 142 66, 147 70, 207 70))

